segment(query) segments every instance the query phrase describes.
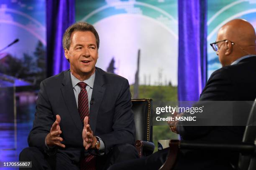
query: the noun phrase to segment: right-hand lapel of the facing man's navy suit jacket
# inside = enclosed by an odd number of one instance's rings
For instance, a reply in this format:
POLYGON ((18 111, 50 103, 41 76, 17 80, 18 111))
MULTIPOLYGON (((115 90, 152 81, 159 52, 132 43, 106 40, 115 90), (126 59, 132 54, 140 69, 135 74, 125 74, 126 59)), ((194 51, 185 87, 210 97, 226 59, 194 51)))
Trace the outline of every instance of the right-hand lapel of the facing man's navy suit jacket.
POLYGON ((104 83, 102 71, 96 67, 95 80, 92 90, 93 104, 90 105, 90 126, 93 132, 95 132, 96 129, 97 115, 105 93, 104 83))

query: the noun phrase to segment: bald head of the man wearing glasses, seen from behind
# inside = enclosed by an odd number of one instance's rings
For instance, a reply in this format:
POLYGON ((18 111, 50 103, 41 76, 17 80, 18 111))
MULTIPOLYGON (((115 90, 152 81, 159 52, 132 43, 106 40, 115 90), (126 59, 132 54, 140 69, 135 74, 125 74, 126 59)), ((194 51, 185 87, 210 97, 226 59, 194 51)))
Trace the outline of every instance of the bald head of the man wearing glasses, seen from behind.
POLYGON ((245 55, 256 55, 255 30, 246 20, 235 19, 223 25, 216 41, 222 41, 218 43, 217 55, 223 66, 245 55))

